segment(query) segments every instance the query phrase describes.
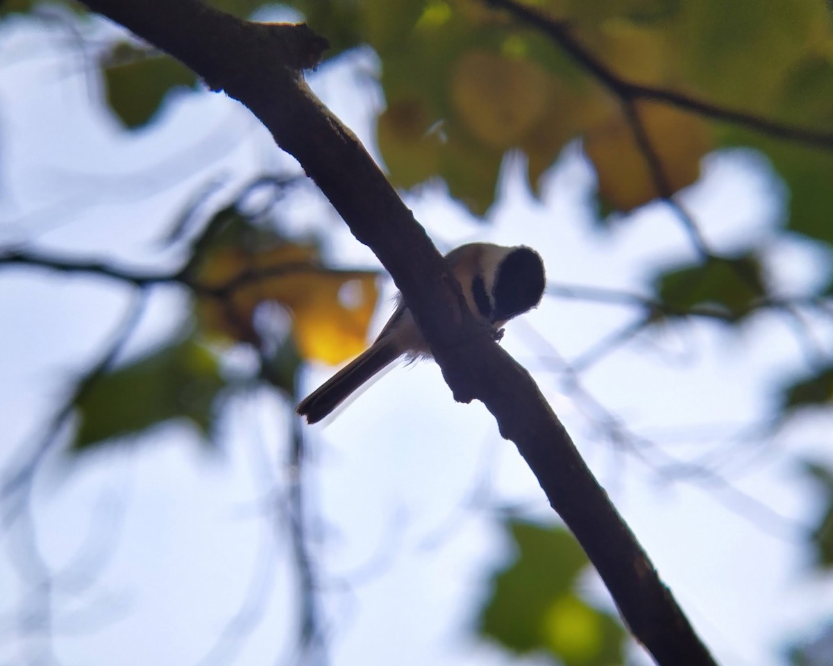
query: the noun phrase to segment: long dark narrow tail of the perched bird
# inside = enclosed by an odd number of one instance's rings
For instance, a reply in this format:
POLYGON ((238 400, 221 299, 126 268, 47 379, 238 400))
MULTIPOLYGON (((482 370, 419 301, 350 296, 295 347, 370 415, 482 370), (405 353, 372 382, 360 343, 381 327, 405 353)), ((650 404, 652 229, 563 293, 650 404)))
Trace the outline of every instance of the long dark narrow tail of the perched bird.
POLYGON ((301 400, 295 411, 306 416, 307 423, 317 423, 347 400, 359 386, 397 360, 399 355, 396 345, 390 342, 373 344, 301 400))

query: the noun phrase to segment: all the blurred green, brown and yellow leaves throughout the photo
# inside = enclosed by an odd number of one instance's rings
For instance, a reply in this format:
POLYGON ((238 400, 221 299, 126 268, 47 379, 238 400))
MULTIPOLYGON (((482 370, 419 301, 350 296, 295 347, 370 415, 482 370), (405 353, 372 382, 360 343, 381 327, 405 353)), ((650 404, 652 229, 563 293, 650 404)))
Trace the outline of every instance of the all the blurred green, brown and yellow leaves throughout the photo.
MULTIPOLYGON (((82 12, 75 2, 56 3, 82 12)), ((211 3, 242 17, 262 6, 211 3)), ((482 216, 507 152, 526 157, 529 185, 540 195, 541 176, 578 140, 596 171, 598 209, 626 212, 691 186, 708 153, 746 147, 771 163, 789 193, 784 230, 833 242, 833 142, 802 133, 833 128, 833 30, 824 0, 522 2, 553 27, 549 33, 485 0, 287 4, 327 37, 331 57, 362 45, 377 53, 387 102, 377 141, 397 186, 441 179, 482 216), (781 129, 771 131, 772 123, 781 129)), ((30 0, 0 3, 4 20, 36 10, 30 0)), ((98 65, 103 102, 130 131, 152 126, 169 95, 198 87, 192 72, 134 42, 112 43, 98 65)), ((239 201, 210 217, 187 271, 169 278, 192 290, 192 335, 80 391, 76 450, 173 419, 210 438, 218 400, 233 390, 218 349, 242 343, 262 351, 255 316, 265 304, 292 317, 290 335, 261 368, 289 395, 302 360, 338 363, 362 350, 377 302, 374 273, 324 266, 316 242, 282 236, 239 201)), ((761 256, 754 246, 732 256, 706 248, 696 261, 653 276, 651 302, 665 315, 707 311, 740 324, 771 300, 761 256)), ((831 293, 833 283, 813 296, 831 293)), ((829 408, 831 398, 833 369, 823 365, 782 388, 778 415, 829 408)), ((819 464, 806 473, 826 494, 811 543, 829 569, 833 474, 819 464)), ((495 575, 481 634, 563 664, 621 662, 621 625, 576 594, 586 558, 575 541, 561 529, 506 527, 517 558, 495 575)))

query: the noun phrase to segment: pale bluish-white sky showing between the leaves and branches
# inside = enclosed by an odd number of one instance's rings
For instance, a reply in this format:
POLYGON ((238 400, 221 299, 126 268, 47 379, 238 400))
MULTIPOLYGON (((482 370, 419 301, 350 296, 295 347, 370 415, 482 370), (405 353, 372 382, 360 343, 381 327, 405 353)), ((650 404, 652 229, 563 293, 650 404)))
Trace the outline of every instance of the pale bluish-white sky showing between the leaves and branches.
MULTIPOLYGON (((108 28, 102 27, 102 34, 108 28)), ((264 170, 292 168, 237 102, 173 96, 157 123, 129 135, 97 102, 98 82, 60 26, 0 27, 0 246, 172 266, 162 239, 208 181, 229 196, 264 170)), ((316 92, 372 147, 382 105, 367 53, 311 77, 316 92)), ((588 206, 593 174, 568 147, 541 200, 506 160, 501 196, 474 221, 439 185, 406 196, 442 251, 482 240, 541 252, 558 286, 644 291, 691 246, 661 205, 600 231, 588 206)), ((774 241, 781 190, 760 157, 712 155, 682 201, 721 251, 771 236, 774 282, 800 291, 828 277, 829 257, 797 238, 774 241)), ((220 195, 218 195, 220 196, 220 195)), ((378 264, 325 202, 300 193, 285 231, 325 239, 339 266, 378 264)), ((391 311, 384 283, 375 321, 391 311)), ((0 272, 0 465, 37 441, 73 377, 97 357, 128 311, 122 286, 37 271, 0 272)), ((171 335, 187 299, 154 289, 124 350, 130 358, 171 335)), ((784 664, 781 650, 833 614, 833 584, 808 568, 801 527, 821 495, 799 475, 801 456, 833 461, 831 418, 808 415, 761 436, 772 387, 806 369, 806 348, 781 316, 739 331, 707 322, 637 335, 581 375, 576 360, 636 313, 547 296, 502 342, 538 381, 581 454, 663 579, 723 664, 784 664), (602 414, 597 405, 604 405, 602 414), (603 415, 636 435, 611 437, 603 415), (715 475, 674 475, 696 460, 715 475)), ((828 353, 833 331, 813 322, 828 353)), ((255 359, 236 350, 231 370, 255 359)), ((312 390, 332 373, 315 366, 312 390)), ((266 390, 230 401, 219 450, 187 426, 164 425, 82 460, 51 455, 37 475, 32 524, 52 570, 48 644, 21 630, 39 579, 19 546, 0 539, 0 664, 285 664, 297 635, 297 576, 282 495, 291 405, 266 390)), ((514 445, 479 404, 459 405, 435 365, 401 365, 327 423, 304 430, 309 539, 332 664, 540 664, 476 639, 491 573, 511 559, 495 516, 516 508, 554 516, 514 445), (484 495, 483 490, 486 489, 484 495)), ((66 435, 66 434, 65 434, 66 435)), ((586 594, 609 606, 592 575, 586 594)), ((646 663, 636 655, 636 663, 646 663)))

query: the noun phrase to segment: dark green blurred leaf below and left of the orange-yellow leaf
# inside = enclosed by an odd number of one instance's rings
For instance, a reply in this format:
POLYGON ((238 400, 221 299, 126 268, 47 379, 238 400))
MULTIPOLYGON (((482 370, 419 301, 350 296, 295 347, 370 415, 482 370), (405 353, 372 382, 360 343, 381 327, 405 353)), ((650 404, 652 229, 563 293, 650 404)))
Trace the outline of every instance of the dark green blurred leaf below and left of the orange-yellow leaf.
POLYGON ((217 359, 188 338, 97 377, 75 401, 80 417, 72 449, 87 450, 164 421, 186 418, 203 435, 225 385, 217 359))

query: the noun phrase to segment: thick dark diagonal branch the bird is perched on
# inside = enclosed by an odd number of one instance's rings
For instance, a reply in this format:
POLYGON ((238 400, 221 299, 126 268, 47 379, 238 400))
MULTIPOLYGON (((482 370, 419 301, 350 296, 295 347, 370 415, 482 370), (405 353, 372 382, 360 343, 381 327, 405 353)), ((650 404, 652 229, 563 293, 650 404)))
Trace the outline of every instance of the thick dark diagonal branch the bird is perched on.
POLYGON ((307 27, 255 24, 198 0, 86 0, 93 11, 245 104, 296 157, 354 236, 391 273, 456 400, 481 400, 601 574, 658 664, 715 664, 530 375, 466 310, 460 286, 352 132, 312 95, 301 68, 324 42, 307 27))

